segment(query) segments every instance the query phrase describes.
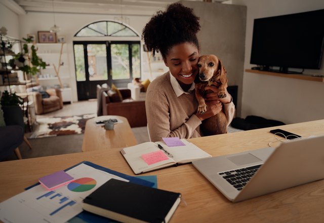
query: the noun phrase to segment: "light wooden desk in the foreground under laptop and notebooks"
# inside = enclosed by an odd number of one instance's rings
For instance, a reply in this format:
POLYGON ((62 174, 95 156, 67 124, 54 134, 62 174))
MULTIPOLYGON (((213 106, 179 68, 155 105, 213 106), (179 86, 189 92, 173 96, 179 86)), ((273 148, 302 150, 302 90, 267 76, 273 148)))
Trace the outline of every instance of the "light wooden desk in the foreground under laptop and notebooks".
MULTIPOLYGON (((324 134, 324 120, 281 126, 303 137, 324 134)), ((257 129, 189 141, 212 156, 233 154, 266 147, 274 141, 269 130, 257 129)), ((88 160, 104 167, 134 175, 120 148, 42 157, 0 163, 0 201, 8 199, 37 182, 41 176, 88 160)), ((307 149, 307 148, 305 148, 307 149)), ((258 198, 228 201, 191 164, 157 170, 159 189, 180 192, 187 202, 180 203, 171 222, 324 222, 324 180, 307 183, 258 198)))

